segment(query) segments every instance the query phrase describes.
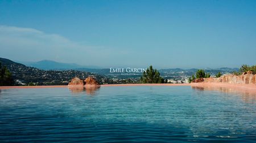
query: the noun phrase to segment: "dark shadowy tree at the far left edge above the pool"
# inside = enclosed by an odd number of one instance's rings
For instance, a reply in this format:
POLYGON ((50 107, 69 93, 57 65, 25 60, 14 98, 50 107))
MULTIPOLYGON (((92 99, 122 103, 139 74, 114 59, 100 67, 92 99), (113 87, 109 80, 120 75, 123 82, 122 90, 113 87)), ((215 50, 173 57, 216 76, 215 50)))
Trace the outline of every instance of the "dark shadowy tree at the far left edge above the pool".
POLYGON ((0 86, 10 85, 14 85, 14 80, 11 76, 11 72, 7 69, 6 66, 2 67, 2 63, 0 63, 0 86))

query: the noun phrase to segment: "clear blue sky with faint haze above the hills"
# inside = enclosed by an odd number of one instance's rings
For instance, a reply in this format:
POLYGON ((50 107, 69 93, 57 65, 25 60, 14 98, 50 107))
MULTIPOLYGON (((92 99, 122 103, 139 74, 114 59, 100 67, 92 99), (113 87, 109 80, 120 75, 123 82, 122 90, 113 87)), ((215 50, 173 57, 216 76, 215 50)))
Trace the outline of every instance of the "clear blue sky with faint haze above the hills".
POLYGON ((256 64, 256 1, 0 1, 0 57, 99 67, 256 64))

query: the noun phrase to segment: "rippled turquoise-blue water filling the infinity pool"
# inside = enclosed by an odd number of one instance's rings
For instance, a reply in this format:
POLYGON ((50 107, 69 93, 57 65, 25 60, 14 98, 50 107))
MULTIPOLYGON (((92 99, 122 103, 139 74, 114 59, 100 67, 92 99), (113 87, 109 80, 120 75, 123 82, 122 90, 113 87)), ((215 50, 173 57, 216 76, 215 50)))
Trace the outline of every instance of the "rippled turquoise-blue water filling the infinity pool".
POLYGON ((0 90, 0 142, 255 142, 255 96, 190 86, 0 90))

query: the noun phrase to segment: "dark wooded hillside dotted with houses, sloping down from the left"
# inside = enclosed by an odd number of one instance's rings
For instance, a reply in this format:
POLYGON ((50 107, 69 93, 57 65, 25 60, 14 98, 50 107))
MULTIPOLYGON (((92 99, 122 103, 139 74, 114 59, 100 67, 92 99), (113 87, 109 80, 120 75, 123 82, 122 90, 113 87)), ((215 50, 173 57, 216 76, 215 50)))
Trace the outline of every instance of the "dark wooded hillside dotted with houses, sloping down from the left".
POLYGON ((36 85, 67 85, 73 77, 85 79, 88 76, 96 77, 102 84, 108 82, 103 76, 83 71, 46 71, 34 67, 27 67, 24 64, 13 62, 12 60, 0 58, 2 66, 6 66, 13 75, 16 85, 27 85, 35 83, 36 85))

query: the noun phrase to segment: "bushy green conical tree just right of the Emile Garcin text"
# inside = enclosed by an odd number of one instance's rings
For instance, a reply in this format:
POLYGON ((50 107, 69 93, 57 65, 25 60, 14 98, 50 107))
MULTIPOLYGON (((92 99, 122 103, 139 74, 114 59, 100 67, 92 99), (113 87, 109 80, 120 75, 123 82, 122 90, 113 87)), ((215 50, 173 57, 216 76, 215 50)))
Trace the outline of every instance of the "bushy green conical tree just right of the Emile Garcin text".
POLYGON ((153 67, 150 66, 149 68, 147 68, 146 72, 143 72, 141 82, 143 84, 157 84, 164 83, 164 79, 160 76, 158 70, 153 69, 153 67))

